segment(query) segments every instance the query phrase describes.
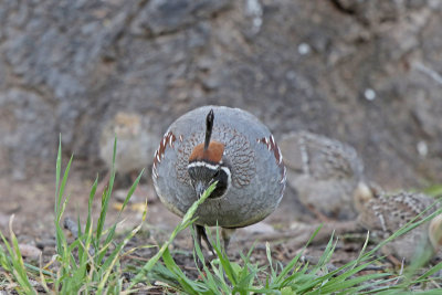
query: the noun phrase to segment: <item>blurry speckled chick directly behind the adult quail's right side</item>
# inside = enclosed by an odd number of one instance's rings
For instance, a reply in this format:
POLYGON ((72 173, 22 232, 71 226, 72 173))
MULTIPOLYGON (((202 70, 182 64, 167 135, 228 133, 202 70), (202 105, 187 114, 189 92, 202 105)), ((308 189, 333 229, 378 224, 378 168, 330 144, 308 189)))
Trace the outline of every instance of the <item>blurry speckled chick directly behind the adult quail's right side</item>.
POLYGON ((358 186, 364 181, 364 165, 352 147, 325 136, 296 131, 283 137, 281 150, 287 182, 305 207, 323 220, 356 217, 352 194, 364 187, 358 186))

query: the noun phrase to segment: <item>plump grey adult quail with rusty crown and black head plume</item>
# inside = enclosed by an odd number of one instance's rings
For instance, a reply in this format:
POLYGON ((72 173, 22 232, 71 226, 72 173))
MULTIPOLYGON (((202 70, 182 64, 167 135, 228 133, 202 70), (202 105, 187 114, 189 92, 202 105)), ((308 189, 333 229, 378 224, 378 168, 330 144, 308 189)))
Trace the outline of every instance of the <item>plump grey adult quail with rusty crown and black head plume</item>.
POLYGON ((166 131, 152 165, 161 202, 182 217, 214 181, 198 208, 197 242, 203 225, 222 228, 224 247, 236 228, 272 213, 285 188, 285 167, 272 134, 256 117, 239 108, 203 106, 179 117, 166 131))

